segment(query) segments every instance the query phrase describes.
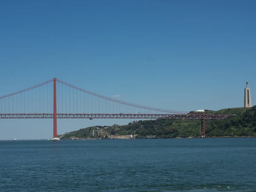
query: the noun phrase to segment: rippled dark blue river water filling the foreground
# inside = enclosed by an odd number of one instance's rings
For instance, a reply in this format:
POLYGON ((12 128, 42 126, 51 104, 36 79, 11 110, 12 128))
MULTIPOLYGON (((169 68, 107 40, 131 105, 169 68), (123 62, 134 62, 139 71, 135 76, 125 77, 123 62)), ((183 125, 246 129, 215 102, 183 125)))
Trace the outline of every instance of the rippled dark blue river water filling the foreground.
POLYGON ((0 141, 0 191, 256 191, 256 138, 0 141))

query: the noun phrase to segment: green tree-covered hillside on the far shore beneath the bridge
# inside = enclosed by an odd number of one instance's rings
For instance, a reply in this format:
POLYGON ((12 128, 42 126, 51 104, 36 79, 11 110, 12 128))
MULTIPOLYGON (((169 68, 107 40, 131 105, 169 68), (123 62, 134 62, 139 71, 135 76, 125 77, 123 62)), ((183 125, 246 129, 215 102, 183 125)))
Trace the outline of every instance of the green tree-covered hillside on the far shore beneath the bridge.
MULTIPOLYGON (((206 137, 256 136, 256 105, 252 108, 229 108, 219 111, 206 110, 211 114, 233 114, 226 120, 206 120, 206 137)), ((62 135, 61 138, 90 138, 93 129, 98 130, 96 137, 108 135, 137 135, 145 138, 154 135, 157 138, 200 137, 201 120, 156 119, 140 120, 128 125, 97 126, 83 128, 62 135)))

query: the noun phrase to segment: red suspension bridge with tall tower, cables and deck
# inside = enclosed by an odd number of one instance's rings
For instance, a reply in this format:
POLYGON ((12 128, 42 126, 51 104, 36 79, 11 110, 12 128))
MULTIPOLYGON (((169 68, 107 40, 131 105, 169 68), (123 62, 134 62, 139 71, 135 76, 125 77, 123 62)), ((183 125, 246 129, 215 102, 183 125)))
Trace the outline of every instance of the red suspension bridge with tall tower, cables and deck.
POLYGON ((56 78, 0 97, 0 119, 52 118, 54 138, 57 137, 57 118, 201 119, 201 134, 204 136, 206 119, 227 119, 229 116, 136 105, 81 89, 56 78))

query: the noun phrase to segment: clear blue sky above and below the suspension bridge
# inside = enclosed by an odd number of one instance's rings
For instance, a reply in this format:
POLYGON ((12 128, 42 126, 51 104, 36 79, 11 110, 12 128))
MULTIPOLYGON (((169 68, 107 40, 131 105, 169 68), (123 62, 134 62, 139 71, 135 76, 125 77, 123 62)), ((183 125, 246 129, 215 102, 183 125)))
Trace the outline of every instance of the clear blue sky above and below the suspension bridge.
MULTIPOLYGON (((0 1, 0 95, 56 77, 177 111, 256 101, 256 1, 0 1)), ((58 120, 58 134, 130 120, 58 120)), ((52 137, 52 120, 0 120, 0 140, 52 137), (18 135, 15 135, 18 134, 18 135)))

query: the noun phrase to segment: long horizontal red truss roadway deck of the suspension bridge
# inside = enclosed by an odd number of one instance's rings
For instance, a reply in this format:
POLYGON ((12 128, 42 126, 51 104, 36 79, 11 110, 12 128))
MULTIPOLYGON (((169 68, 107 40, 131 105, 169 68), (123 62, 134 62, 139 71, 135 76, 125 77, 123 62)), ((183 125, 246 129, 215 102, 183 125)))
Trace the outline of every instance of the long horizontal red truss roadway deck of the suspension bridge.
MULTIPOLYGON (((227 119, 223 114, 125 114, 125 113, 57 113, 58 119, 227 119)), ((53 119, 53 113, 0 113, 0 119, 53 119)))

